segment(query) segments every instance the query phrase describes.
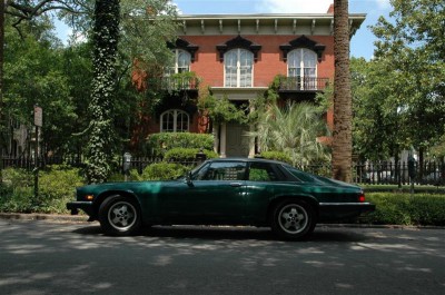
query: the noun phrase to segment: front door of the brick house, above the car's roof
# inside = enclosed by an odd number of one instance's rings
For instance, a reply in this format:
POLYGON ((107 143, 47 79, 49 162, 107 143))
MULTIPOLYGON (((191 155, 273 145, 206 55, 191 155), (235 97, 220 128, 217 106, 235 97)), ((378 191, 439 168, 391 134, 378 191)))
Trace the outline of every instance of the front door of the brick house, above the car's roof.
POLYGON ((250 138, 246 135, 249 131, 247 125, 228 122, 226 127, 226 156, 248 157, 250 138))

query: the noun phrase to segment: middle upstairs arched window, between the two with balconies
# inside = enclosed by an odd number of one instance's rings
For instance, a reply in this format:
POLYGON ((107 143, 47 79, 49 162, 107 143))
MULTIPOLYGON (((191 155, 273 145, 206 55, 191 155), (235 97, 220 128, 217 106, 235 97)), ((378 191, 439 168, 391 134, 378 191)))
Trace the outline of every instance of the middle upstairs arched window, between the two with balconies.
POLYGON ((233 49, 224 55, 225 87, 251 87, 254 53, 246 49, 233 49))

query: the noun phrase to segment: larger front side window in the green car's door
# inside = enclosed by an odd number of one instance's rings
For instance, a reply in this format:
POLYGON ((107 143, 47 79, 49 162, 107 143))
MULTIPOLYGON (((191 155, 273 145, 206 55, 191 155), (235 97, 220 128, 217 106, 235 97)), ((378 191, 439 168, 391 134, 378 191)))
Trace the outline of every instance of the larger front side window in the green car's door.
POLYGON ((246 164, 241 161, 212 163, 202 180, 244 180, 246 164))

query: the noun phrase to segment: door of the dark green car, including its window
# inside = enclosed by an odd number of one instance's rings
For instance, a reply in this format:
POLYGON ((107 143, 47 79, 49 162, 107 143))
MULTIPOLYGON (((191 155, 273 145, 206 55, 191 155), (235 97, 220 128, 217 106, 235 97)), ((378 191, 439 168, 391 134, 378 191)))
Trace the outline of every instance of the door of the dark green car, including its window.
POLYGON ((162 217, 191 224, 243 222, 246 213, 245 174, 244 161, 209 163, 188 184, 162 194, 162 217))

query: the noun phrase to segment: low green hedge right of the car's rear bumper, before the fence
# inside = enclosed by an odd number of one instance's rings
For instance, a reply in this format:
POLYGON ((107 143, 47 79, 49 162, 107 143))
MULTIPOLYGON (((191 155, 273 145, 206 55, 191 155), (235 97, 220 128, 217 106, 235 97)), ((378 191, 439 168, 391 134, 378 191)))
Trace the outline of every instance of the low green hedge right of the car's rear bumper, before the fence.
POLYGON ((367 216, 373 224, 445 225, 444 195, 372 193, 366 198, 377 206, 367 216))

